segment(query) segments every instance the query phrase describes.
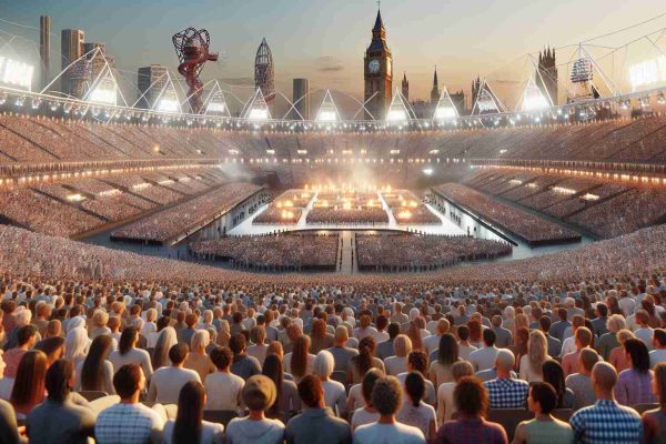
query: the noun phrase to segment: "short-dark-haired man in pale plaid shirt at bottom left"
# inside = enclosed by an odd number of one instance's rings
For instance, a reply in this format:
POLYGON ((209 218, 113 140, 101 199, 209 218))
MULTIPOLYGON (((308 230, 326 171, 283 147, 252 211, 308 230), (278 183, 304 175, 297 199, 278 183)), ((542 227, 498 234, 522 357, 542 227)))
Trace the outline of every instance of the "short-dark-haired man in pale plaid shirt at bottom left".
POLYGON ((148 444, 162 442, 163 421, 152 408, 139 402, 145 390, 145 376, 138 364, 127 364, 113 375, 120 403, 98 415, 94 438, 98 444, 148 444))

